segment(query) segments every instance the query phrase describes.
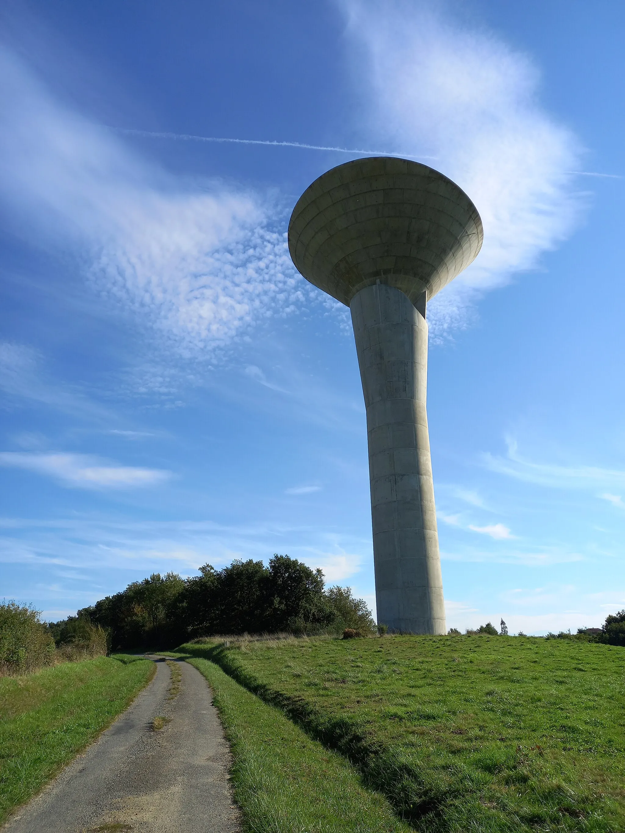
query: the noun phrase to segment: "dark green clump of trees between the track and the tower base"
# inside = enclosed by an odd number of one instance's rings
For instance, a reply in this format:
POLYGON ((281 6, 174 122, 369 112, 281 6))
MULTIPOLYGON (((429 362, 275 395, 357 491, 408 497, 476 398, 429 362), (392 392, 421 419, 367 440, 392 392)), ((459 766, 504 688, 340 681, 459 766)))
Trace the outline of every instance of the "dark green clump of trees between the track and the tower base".
MULTIPOLYGON (((115 651, 164 648, 214 634, 328 631, 346 617, 360 631, 374 628, 371 611, 349 588, 327 594, 321 570, 278 555, 269 566, 252 559, 221 570, 205 564, 199 576, 186 580, 177 573, 153 573, 78 611, 81 617, 106 629, 115 651)), ((76 630, 79 623, 59 622, 55 628, 61 626, 76 630)))

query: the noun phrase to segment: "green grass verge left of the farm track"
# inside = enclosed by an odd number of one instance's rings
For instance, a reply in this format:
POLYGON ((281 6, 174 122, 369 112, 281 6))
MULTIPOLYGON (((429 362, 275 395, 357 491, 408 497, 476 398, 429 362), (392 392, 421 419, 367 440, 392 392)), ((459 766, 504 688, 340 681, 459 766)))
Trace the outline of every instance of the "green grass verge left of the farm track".
POLYGON ((154 670, 148 660, 101 656, 0 678, 0 824, 108 726, 154 670))

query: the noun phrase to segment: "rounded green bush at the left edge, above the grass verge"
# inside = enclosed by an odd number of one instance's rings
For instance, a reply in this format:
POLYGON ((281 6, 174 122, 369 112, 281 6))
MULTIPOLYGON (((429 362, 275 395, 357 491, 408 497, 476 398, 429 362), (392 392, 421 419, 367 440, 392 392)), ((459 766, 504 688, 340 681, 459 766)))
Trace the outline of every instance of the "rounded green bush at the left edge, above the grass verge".
POLYGON ((0 604, 0 673, 32 671, 53 658, 54 640, 39 611, 15 601, 0 604))

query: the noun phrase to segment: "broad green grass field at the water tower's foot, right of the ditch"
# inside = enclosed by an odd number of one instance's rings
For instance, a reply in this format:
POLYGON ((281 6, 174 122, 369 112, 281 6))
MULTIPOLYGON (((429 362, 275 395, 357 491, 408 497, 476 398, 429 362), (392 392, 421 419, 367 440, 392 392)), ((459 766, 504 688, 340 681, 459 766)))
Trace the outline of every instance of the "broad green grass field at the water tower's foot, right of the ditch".
POLYGON ((428 833, 625 831, 625 651, 532 637, 189 644, 428 833))

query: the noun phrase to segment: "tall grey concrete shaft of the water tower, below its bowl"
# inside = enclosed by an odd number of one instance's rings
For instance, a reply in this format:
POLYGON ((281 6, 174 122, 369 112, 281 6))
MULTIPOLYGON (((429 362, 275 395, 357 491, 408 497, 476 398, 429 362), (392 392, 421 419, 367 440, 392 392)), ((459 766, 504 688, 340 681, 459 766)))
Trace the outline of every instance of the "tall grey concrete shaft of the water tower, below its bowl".
POLYGON ((367 407, 378 622, 446 633, 426 392, 428 325, 384 284, 350 305, 367 407))

